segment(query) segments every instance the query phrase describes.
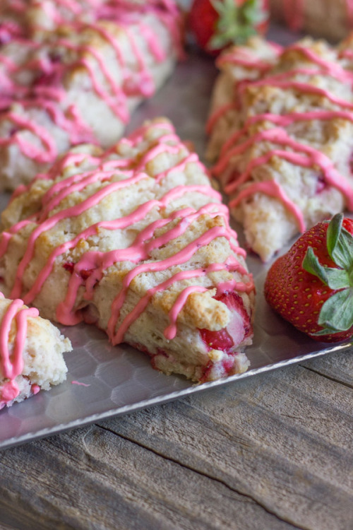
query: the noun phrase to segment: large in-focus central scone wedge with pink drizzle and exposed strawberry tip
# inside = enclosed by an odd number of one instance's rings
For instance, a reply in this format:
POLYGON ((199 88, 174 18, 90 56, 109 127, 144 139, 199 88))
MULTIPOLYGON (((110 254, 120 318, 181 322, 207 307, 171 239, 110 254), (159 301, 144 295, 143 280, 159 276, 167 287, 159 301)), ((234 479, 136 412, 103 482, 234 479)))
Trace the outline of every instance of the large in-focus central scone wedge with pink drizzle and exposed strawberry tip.
POLYGON ((81 146, 2 214, 3 288, 62 324, 92 322, 166 373, 243 372, 254 287, 205 167, 165 119, 110 151, 81 146))

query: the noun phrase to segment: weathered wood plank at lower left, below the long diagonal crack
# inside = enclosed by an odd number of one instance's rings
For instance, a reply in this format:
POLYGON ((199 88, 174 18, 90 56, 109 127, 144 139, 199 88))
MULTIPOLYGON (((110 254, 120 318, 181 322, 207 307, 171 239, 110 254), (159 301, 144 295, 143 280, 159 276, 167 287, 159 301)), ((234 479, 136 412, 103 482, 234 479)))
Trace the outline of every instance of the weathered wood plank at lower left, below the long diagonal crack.
POLYGON ((95 425, 9 449, 0 472, 2 517, 3 510, 8 520, 27 517, 24 530, 34 521, 75 529, 293 528, 221 481, 95 425))

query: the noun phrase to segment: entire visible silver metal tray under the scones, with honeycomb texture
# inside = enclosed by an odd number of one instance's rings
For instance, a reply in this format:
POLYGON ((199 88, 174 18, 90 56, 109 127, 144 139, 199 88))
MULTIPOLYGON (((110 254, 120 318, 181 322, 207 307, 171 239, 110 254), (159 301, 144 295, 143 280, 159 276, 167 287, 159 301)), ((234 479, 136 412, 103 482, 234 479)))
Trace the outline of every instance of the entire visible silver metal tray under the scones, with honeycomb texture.
MULTIPOLYGON (((277 37, 273 40, 288 42, 290 39, 287 33, 279 33, 277 37)), ((190 52, 164 88, 133 114, 128 129, 132 131, 144 119, 167 116, 174 122, 179 136, 193 142, 202 159, 204 125, 216 75, 213 59, 190 52)), ((0 207, 7 200, 5 195, 0 196, 0 207)), ((241 229, 235 225, 234 228, 241 242, 241 229)), ((73 344, 73 352, 66 354, 68 379, 59 387, 0 411, 0 449, 234 384, 244 377, 352 346, 352 342, 335 346, 318 343, 277 317, 263 298, 263 281, 270 264, 264 266, 253 256, 249 256, 248 264, 257 289, 255 338, 246 350, 251 361, 248 372, 215 382, 192 384, 182 377, 153 370, 148 356, 129 346, 113 347, 107 336, 94 326, 61 327, 73 344)))

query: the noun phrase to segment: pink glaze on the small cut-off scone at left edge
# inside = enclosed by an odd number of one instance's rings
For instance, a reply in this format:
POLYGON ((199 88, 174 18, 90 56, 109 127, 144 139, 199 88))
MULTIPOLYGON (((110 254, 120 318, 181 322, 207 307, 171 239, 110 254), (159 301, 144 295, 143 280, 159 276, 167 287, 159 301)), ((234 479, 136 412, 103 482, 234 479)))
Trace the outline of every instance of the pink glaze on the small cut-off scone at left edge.
MULTIPOLYGON (((1 297, 3 298, 3 297, 1 297)), ((16 377, 23 372, 23 348, 27 334, 28 317, 37 317, 35 307, 23 307, 22 300, 13 300, 4 314, 0 324, 0 372, 4 379, 8 379, 0 389, 0 405, 12 401, 19 394, 16 377), (8 349, 8 337, 11 325, 15 322, 16 336, 13 351, 8 349)))

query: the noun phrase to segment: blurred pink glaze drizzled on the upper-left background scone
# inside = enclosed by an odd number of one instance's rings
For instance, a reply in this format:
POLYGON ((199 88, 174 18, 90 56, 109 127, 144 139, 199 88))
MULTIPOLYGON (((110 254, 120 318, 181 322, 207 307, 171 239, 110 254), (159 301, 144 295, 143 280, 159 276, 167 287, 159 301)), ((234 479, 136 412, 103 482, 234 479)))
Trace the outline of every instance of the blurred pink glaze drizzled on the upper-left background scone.
MULTIPOLYGON (((18 13, 25 13, 25 9, 27 8, 25 2, 19 1, 17 7, 16 5, 17 4, 13 4, 11 7, 15 9, 15 11, 18 11, 18 13)), ((113 47, 114 52, 116 53, 116 59, 121 66, 123 74, 122 86, 119 86, 119 84, 114 81, 112 74, 109 72, 109 69, 107 69, 104 56, 94 48, 89 46, 76 47, 67 39, 60 39, 56 42, 57 48, 65 47, 66 49, 70 49, 73 54, 75 52, 85 52, 84 58, 77 61, 76 66, 81 65, 85 68, 92 84, 92 90, 95 91, 98 97, 109 106, 116 117, 124 124, 126 124, 129 119, 128 95, 150 97, 150 95, 155 92, 155 86, 148 65, 145 64, 140 48, 136 43, 135 37, 133 37, 133 34, 129 30, 128 25, 131 23, 138 23, 139 35, 145 40, 146 46, 150 53, 155 57, 156 61, 163 61, 166 57, 166 52, 163 49, 160 40, 158 40, 157 36, 152 33, 149 26, 140 23, 141 13, 152 13, 159 18, 168 28, 169 33, 173 35, 174 46, 176 49, 180 49, 181 47, 178 29, 181 21, 180 14, 177 6, 168 0, 151 1, 148 2, 148 4, 140 6, 131 5, 129 2, 124 1, 116 1, 109 4, 109 6, 102 6, 100 5, 100 2, 94 0, 88 0, 87 6, 85 6, 85 4, 81 6, 76 1, 65 0, 61 1, 58 6, 54 6, 54 4, 47 5, 44 3, 42 8, 44 8, 44 10, 49 9, 48 16, 51 20, 54 20, 56 25, 68 23, 68 20, 70 20, 69 23, 75 33, 81 32, 85 30, 85 28, 91 28, 99 33, 101 37, 113 47), (94 18, 94 20, 85 24, 80 21, 80 17, 85 15, 87 8, 90 8, 90 11, 88 12, 89 18, 94 18), (77 20, 73 20, 73 18, 77 18, 77 20), (107 28, 104 27, 104 25, 100 24, 100 20, 104 19, 116 22, 120 28, 124 30, 124 33, 126 33, 131 51, 138 64, 138 72, 136 74, 128 71, 119 41, 107 28), (95 76, 92 61, 90 61, 89 56, 100 65, 100 70, 102 71, 104 78, 103 82, 99 81, 97 76, 95 76)), ((10 36, 8 38, 11 39, 12 37, 10 36)), ((20 42, 17 37, 16 40, 20 42)), ((24 45, 31 46, 32 43, 28 40, 28 42, 24 42, 24 45)), ((18 68, 12 61, 2 56, 0 57, 0 62, 5 67, 5 73, 1 73, 1 76, 5 75, 4 83, 2 83, 2 81, 1 83, 4 84, 4 86, 8 85, 6 93, 4 93, 3 90, 2 95, 0 94, 1 109, 6 109, 6 107, 11 104, 11 98, 13 101, 20 99, 21 104, 24 107, 43 109, 47 112, 52 119, 52 122, 66 131, 71 145, 87 141, 97 143, 95 134, 90 129, 90 126, 85 123, 84 117, 78 112, 78 107, 76 105, 71 105, 71 107, 65 109, 63 106, 65 105, 66 98, 63 79, 65 78, 66 73, 70 72, 75 64, 63 65, 53 59, 52 62, 45 61, 45 64, 44 61, 41 62, 40 60, 37 61, 35 65, 30 64, 30 61, 28 61, 27 64, 18 68), (15 78, 13 78, 13 73, 16 73, 20 69, 27 69, 29 71, 35 69, 35 71, 42 71, 43 76, 42 78, 35 79, 32 86, 20 86, 15 78)), ((13 134, 13 136, 10 136, 9 138, 2 139, 0 141, 0 147, 16 144, 25 157, 31 158, 37 163, 47 164, 54 161, 57 155, 54 136, 38 126, 35 123, 35 119, 16 117, 11 112, 5 112, 1 119, 7 119, 16 124, 16 126, 18 126, 18 134, 13 134), (45 151, 40 151, 33 146, 32 143, 23 139, 23 135, 20 133, 21 131, 26 130, 30 131, 40 139, 45 151)))

